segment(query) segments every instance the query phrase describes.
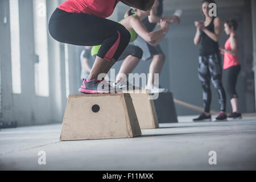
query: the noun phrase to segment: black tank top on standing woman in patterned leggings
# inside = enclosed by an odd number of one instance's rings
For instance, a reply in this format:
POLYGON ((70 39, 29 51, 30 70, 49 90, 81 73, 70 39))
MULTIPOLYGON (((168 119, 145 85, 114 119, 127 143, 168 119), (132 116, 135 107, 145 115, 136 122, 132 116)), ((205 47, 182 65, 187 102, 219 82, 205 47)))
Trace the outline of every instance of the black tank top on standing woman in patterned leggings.
MULTIPOLYGON (((212 20, 210 21, 210 24, 207 27, 205 27, 211 32, 214 32, 214 24, 213 24, 214 19, 215 19, 215 17, 213 17, 212 20)), ((199 55, 200 56, 209 56, 209 55, 213 55, 214 53, 218 53, 218 52, 220 52, 218 49, 218 42, 215 42, 214 40, 209 38, 209 36, 207 34, 205 34, 205 32, 202 32, 199 55)))

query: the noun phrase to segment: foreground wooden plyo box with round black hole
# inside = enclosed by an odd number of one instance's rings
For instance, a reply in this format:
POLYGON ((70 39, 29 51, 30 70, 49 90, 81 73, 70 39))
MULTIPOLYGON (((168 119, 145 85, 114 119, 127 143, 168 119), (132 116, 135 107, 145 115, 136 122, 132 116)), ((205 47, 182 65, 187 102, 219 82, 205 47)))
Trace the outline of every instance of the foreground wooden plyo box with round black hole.
POLYGON ((132 138, 141 129, 130 94, 70 95, 60 140, 132 138))

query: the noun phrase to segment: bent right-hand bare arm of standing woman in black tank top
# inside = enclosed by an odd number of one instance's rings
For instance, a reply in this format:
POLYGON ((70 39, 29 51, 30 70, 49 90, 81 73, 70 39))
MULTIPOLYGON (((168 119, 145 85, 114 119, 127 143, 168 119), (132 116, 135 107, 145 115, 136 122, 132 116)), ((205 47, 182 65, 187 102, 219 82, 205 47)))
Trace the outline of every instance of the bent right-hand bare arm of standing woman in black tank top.
POLYGON ((222 23, 220 18, 214 19, 214 32, 209 31, 205 26, 202 26, 202 31, 209 36, 210 39, 218 42, 222 33, 222 23))

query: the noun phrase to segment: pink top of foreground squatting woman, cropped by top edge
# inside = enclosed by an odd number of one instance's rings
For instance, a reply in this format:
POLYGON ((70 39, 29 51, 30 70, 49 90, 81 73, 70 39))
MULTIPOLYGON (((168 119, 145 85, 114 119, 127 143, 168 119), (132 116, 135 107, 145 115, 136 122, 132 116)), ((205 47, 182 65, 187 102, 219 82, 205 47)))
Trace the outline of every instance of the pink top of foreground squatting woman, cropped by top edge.
POLYGON ((85 13, 107 18, 120 0, 67 0, 58 8, 68 13, 85 13))

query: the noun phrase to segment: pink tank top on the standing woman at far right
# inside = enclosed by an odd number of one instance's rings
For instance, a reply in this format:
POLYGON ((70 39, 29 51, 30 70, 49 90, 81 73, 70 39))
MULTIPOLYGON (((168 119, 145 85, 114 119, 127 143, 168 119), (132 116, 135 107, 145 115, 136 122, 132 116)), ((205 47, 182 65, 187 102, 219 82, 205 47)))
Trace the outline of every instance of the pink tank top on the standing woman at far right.
MULTIPOLYGON (((230 37, 229 39, 226 41, 225 43, 225 49, 231 51, 231 45, 230 45, 230 37)), ((239 59, 238 59, 238 53, 236 54, 236 56, 231 55, 228 52, 225 52, 224 54, 224 64, 223 64, 223 69, 228 69, 230 67, 239 65, 239 59)))

